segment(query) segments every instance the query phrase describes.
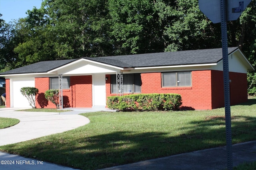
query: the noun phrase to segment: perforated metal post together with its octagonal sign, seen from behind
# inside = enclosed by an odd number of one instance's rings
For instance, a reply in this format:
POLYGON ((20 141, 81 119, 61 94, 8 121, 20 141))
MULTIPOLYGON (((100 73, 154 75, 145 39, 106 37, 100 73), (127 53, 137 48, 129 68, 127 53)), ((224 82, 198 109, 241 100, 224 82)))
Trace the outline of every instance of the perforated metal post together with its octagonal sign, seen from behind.
POLYGON ((232 136, 228 70, 227 21, 237 20, 251 0, 198 0, 199 9, 213 22, 221 24, 223 83, 226 120, 227 168, 232 170, 232 136), (226 2, 227 1, 227 2, 226 2))

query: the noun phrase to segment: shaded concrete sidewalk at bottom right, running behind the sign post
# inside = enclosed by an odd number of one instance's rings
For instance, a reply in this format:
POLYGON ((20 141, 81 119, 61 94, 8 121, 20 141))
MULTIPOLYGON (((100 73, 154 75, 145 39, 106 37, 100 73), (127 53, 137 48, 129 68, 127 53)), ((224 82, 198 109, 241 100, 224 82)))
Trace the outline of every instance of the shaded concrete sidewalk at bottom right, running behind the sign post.
MULTIPOLYGON (((256 161, 256 141, 233 145, 232 160, 233 167, 244 162, 256 161)), ((226 168, 226 147, 217 147, 102 170, 225 170, 226 168)))

